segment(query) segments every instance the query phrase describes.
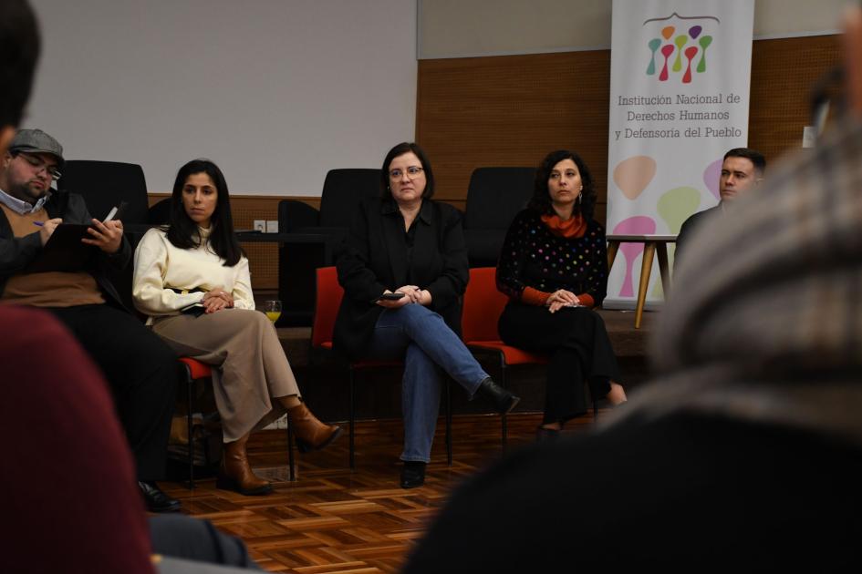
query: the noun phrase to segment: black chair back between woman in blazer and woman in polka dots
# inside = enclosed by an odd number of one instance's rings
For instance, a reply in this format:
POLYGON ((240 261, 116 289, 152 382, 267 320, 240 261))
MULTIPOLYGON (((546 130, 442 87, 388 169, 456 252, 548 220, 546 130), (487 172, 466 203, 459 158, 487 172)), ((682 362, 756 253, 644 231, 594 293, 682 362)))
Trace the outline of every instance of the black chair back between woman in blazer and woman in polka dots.
POLYGON ((467 188, 464 239, 471 267, 495 267, 506 231, 533 195, 534 168, 476 168, 467 188))

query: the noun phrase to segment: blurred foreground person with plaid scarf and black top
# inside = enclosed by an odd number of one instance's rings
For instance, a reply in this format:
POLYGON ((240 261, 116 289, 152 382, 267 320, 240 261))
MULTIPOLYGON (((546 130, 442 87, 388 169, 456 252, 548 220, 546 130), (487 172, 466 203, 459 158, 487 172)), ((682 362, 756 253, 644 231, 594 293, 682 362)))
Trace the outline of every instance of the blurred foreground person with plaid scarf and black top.
POLYGON ((859 8, 845 42, 851 113, 692 237, 658 378, 596 435, 470 480, 406 572, 860 567, 859 8))

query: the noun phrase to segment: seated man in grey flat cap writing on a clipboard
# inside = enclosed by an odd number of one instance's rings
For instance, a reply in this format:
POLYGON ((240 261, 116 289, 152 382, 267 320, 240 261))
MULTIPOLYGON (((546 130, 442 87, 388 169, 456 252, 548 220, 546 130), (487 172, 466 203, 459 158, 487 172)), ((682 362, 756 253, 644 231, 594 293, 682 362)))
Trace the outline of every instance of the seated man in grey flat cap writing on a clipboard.
MULTIPOLYGON (((109 382, 148 509, 177 510, 179 501, 155 482, 164 477, 167 460, 176 400, 176 355, 128 313, 108 280, 109 267, 123 268, 131 256, 122 222, 92 219, 81 196, 51 187, 64 162, 57 139, 40 129, 18 131, 2 158, 0 303, 41 307, 75 335, 109 382), (34 268, 62 223, 88 225, 85 237, 75 241, 92 246, 93 253, 80 269, 34 268)), ((33 351, 38 361, 39 354, 51 353, 51 342, 33 351)), ((57 379, 57 384, 63 384, 59 374, 57 379)))

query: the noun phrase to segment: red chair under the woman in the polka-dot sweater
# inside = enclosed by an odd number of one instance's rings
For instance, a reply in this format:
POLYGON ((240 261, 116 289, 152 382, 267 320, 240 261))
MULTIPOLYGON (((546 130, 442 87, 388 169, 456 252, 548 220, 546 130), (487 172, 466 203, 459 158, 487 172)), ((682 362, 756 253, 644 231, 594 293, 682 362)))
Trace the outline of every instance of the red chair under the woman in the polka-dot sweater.
MULTIPOLYGON (((497 322, 509 302, 504 293, 497 291, 495 267, 474 267, 470 270, 470 282, 464 292, 462 314, 462 337, 471 351, 495 353, 500 357, 500 384, 506 384, 506 367, 515 364, 547 364, 545 354, 531 353, 505 344, 497 332, 497 322)), ((595 401, 593 412, 597 413, 595 401)), ((508 429, 506 415, 502 417, 503 449, 506 447, 508 429)))

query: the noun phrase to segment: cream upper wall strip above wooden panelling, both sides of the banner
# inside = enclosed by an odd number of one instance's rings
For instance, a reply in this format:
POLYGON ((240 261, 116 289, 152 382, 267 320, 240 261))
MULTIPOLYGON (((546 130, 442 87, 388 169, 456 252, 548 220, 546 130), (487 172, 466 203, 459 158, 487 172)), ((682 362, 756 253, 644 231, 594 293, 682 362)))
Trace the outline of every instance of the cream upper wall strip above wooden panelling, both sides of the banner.
MULTIPOLYGON (((418 0, 420 59, 610 47, 611 0, 418 0)), ((757 0, 754 37, 834 34, 850 0, 757 0)))

